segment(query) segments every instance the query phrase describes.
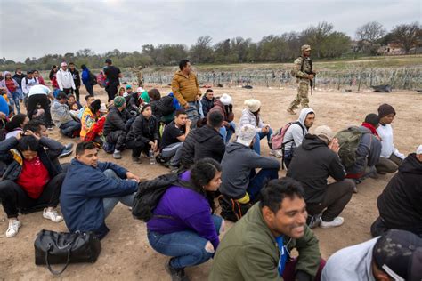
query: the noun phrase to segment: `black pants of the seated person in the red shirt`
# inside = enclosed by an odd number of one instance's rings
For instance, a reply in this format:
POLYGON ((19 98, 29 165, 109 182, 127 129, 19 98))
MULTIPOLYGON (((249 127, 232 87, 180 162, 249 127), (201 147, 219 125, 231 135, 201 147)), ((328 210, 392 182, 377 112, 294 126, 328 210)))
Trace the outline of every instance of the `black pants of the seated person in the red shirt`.
POLYGON ((28 194, 19 184, 14 181, 0 181, 0 199, 2 201, 4 213, 7 217, 18 217, 18 210, 26 210, 39 206, 56 207, 59 205, 61 184, 66 173, 59 173, 45 185, 43 193, 37 199, 28 197, 28 194))

